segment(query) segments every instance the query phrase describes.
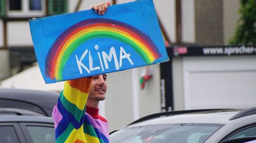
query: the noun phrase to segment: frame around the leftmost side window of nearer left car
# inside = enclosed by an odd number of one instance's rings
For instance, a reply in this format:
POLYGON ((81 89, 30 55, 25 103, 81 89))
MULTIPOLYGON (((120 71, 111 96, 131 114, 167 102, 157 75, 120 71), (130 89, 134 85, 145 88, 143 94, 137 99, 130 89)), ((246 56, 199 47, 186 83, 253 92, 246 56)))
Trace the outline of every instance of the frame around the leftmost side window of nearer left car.
POLYGON ((0 127, 2 126, 12 126, 14 128, 14 131, 17 134, 17 138, 19 140, 20 143, 27 143, 27 141, 24 138, 23 132, 20 129, 18 123, 16 122, 8 122, 8 123, 0 123, 0 127))

